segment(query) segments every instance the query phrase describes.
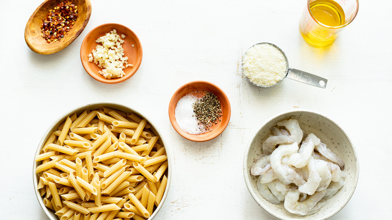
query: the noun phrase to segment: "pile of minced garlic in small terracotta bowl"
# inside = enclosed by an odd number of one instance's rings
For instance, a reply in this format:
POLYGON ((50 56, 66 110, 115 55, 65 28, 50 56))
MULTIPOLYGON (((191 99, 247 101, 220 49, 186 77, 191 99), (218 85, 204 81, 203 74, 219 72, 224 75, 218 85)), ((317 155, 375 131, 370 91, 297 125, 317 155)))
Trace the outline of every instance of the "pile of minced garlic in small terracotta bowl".
MULTIPOLYGON (((124 39, 125 35, 122 34, 121 37, 124 39)), ((132 64, 128 64, 128 57, 124 57, 124 49, 122 47, 124 40, 117 34, 116 29, 113 29, 110 33, 106 33, 95 42, 101 43, 102 45, 97 45, 88 54, 88 62, 94 62, 100 68, 103 68, 98 72, 106 79, 123 77, 125 75, 123 69, 128 66, 133 66, 132 64)))

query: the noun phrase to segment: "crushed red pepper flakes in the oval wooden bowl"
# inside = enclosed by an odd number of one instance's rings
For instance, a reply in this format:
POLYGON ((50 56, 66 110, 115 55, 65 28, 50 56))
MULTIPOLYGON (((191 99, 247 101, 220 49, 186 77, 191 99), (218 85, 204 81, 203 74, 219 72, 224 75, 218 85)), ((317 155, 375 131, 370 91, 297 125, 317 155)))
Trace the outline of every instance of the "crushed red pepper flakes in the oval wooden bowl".
POLYGON ((70 1, 59 3, 53 10, 49 10, 41 25, 41 36, 47 43, 59 41, 71 30, 76 19, 77 6, 70 1))

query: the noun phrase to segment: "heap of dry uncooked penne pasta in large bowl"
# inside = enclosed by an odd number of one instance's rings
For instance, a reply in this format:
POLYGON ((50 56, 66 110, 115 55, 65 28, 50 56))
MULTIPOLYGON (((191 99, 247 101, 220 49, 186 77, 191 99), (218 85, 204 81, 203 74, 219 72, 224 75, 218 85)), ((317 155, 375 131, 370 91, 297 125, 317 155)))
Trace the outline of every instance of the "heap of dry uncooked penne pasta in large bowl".
POLYGON ((166 152, 147 121, 130 116, 106 107, 86 110, 48 135, 35 158, 37 188, 60 220, 146 219, 159 205, 166 152))

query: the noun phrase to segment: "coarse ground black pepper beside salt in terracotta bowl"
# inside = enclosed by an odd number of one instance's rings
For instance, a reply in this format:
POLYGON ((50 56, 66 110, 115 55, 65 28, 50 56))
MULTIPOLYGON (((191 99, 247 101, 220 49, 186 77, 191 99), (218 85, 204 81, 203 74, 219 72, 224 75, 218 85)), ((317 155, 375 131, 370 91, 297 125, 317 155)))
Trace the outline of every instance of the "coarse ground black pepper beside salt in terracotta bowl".
POLYGON ((221 102, 212 92, 204 91, 205 96, 198 99, 193 104, 193 113, 198 119, 199 124, 203 125, 206 130, 210 131, 211 127, 220 122, 222 116, 221 102))

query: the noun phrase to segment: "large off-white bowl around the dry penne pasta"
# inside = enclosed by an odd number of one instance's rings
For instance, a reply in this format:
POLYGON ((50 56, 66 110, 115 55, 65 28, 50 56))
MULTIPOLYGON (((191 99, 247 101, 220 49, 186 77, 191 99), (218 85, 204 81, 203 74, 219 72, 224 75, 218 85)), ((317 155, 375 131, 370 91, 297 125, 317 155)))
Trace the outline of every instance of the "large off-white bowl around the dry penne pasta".
MULTIPOLYGON (((52 132, 54 132, 54 131, 57 131, 57 127, 58 127, 62 122, 64 122, 64 121, 66 120, 67 116, 70 116, 70 115, 72 115, 72 114, 74 114, 74 113, 82 113, 85 109, 90 109, 90 110, 92 110, 92 109, 97 109, 97 108, 102 107, 102 106, 104 106, 104 107, 109 107, 109 108, 113 108, 113 109, 117 109, 117 110, 119 110, 119 111, 123 111, 123 112, 126 112, 126 113, 133 112, 133 113, 137 114, 138 116, 140 116, 141 118, 144 118, 144 119, 147 120, 147 122, 151 125, 150 130, 151 130, 155 135, 159 135, 159 134, 160 134, 160 132, 157 130, 157 128, 154 126, 154 124, 153 124, 150 120, 148 120, 148 118, 146 118, 145 116, 143 116, 143 115, 140 114, 139 112, 135 111, 135 109, 132 109, 132 108, 130 108, 130 107, 127 107, 127 106, 124 106, 124 105, 121 105, 121 104, 107 103, 107 102, 105 102, 105 103, 87 104, 87 105, 83 105, 83 106, 81 106, 81 107, 75 108, 75 109, 73 109, 73 110, 71 110, 71 111, 65 113, 64 115, 62 115, 60 118, 58 118, 58 119, 49 127, 49 129, 46 131, 46 133, 44 134, 44 136, 43 136, 42 139, 41 139, 41 142, 40 142, 39 145, 38 145, 37 152, 36 152, 36 154, 35 154, 35 156, 34 156, 34 159, 35 159, 35 157, 36 157, 37 155, 40 154, 41 149, 43 148, 43 145, 45 144, 46 140, 49 138, 50 134, 52 134, 52 132)), ((164 138, 163 138, 162 136, 159 136, 159 139, 160 139, 160 141, 161 141, 161 143, 162 143, 163 146, 167 146, 166 143, 165 143, 165 140, 164 140, 164 138)), ((165 198, 166 198, 166 196, 167 196, 167 193, 168 193, 168 191, 169 191, 170 180, 171 180, 171 156, 170 156, 170 152, 167 151, 167 150, 166 150, 166 155, 167 155, 167 162, 168 162, 168 167, 167 167, 167 170, 166 170, 167 185, 166 185, 165 192, 164 192, 164 194, 163 194, 163 196, 162 196, 161 202, 159 203, 158 207, 154 210, 154 212, 151 214, 151 216, 148 218, 148 219, 150 219, 150 220, 151 220, 152 218, 154 218, 154 216, 157 214, 157 212, 159 211, 159 209, 162 207, 162 204, 164 203, 164 200, 165 200, 165 198)), ((53 212, 52 210, 50 210, 49 208, 47 208, 47 207, 44 205, 43 198, 41 197, 40 192, 39 192, 39 190, 37 189, 37 184, 38 184, 38 181, 39 181, 38 175, 35 174, 35 171, 36 171, 36 169, 37 169, 37 164, 38 164, 38 163, 34 161, 34 164, 33 164, 33 184, 34 184, 35 194, 37 195, 38 201, 39 201, 39 203, 40 203, 42 209, 43 209, 44 212, 46 213, 46 215, 47 215, 51 220, 58 220, 59 218, 57 217, 57 215, 55 215, 54 212, 53 212)))

